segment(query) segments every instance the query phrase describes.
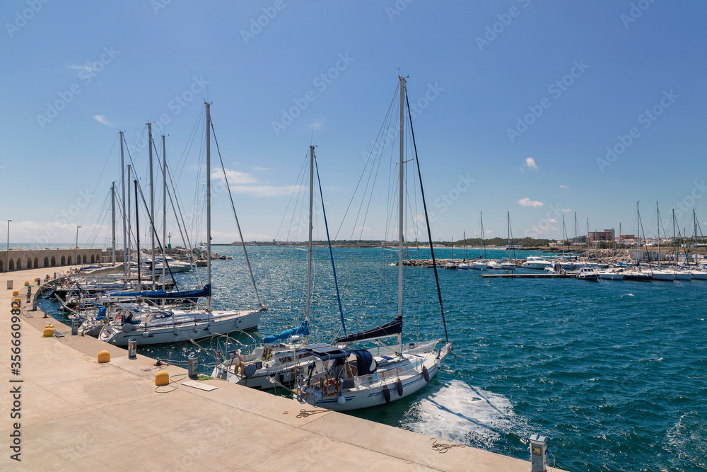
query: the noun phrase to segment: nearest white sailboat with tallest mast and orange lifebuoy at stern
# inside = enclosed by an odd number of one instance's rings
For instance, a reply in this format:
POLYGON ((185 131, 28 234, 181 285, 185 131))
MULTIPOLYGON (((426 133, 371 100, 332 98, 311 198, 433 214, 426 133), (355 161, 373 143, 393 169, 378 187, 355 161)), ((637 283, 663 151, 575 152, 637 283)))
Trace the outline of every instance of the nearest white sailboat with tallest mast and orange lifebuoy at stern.
MULTIPOLYGON (((403 321, 403 225, 404 225, 404 100, 406 98, 405 79, 400 81, 400 161, 399 165, 399 219, 398 219, 398 292, 397 316, 394 320, 365 330, 361 333, 343 336, 334 340, 341 345, 338 352, 318 352, 307 350, 311 361, 301 369, 297 378, 293 398, 301 403, 321 406, 332 410, 358 410, 378 405, 385 405, 400 398, 407 397, 423 388, 437 374, 445 358, 452 352, 452 344, 447 337, 443 347, 437 349, 442 340, 431 340, 426 343, 402 343, 403 321), (380 343, 375 349, 350 349, 351 343, 396 338, 394 346, 380 343)), ((410 111, 408 108, 408 115, 410 111)), ((414 143, 414 132, 410 120, 411 137, 414 143)), ((416 160, 416 159, 415 159, 416 160)), ((419 173, 419 166, 418 166, 419 173)), ((421 183, 421 180, 420 180, 421 183)), ((422 188, 422 185, 421 185, 422 188)), ((423 195, 423 205, 427 217, 426 204, 423 195)), ((433 259, 433 270, 437 275, 434 263, 434 248, 428 221, 428 238, 433 259)), ((437 278, 437 277, 436 277, 437 278)), ((444 324, 444 310, 441 294, 440 309, 444 324)))

